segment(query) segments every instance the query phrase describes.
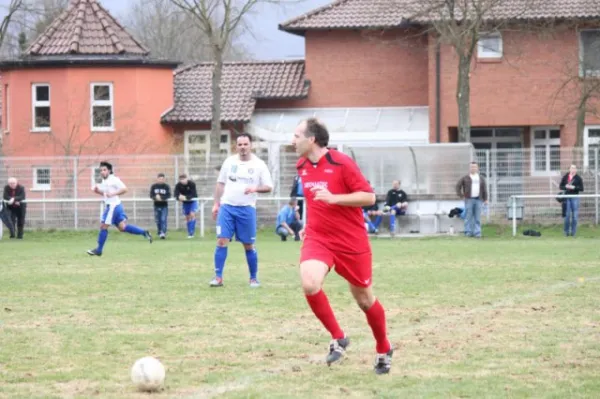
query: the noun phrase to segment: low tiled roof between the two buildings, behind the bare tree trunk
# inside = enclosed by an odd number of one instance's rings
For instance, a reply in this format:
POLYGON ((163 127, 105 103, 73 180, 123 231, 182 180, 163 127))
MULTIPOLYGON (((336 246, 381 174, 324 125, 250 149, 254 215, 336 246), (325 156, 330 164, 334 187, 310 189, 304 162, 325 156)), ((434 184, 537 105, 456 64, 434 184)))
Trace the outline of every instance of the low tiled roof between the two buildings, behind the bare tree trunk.
MULTIPOLYGON (((175 71, 175 104, 163 122, 210 122, 214 64, 175 71)), ((295 99, 308 95, 304 61, 231 62, 223 66, 221 121, 247 122, 257 99, 295 99)))

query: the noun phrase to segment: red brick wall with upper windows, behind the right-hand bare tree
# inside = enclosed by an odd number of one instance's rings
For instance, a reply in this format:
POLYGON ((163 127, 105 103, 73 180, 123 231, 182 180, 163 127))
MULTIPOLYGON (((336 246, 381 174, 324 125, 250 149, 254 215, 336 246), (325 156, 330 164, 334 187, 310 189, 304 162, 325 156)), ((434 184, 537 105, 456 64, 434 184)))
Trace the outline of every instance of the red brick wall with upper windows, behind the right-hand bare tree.
MULTIPOLYGON (((577 76, 579 41, 575 29, 550 35, 503 32, 499 62, 474 60, 471 72, 473 126, 562 126, 561 144, 575 144, 574 105, 577 87, 565 82, 577 76)), ((433 39, 431 40, 433 42, 433 39)), ((430 141, 435 141, 435 52, 429 50, 430 141)), ((441 138, 458 124, 457 57, 449 46, 441 53, 441 138)), ((588 117, 588 124, 599 123, 588 117)))

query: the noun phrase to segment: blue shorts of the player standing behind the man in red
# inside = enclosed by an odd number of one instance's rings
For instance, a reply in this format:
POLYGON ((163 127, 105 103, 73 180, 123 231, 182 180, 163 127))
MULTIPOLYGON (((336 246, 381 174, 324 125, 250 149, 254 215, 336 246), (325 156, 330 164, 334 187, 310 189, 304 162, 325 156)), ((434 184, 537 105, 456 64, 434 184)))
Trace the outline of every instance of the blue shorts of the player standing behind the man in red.
POLYGON ((256 241, 256 208, 253 206, 221 205, 217 216, 217 237, 231 240, 235 238, 243 244, 256 241))

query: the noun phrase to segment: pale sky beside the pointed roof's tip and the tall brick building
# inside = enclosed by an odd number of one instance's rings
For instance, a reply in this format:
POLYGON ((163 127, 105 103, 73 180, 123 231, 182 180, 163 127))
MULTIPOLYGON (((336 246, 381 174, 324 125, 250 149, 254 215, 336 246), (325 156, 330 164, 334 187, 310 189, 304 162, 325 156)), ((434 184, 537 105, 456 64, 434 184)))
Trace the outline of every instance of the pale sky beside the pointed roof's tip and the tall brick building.
MULTIPOLYGON (((122 20, 129 3, 128 0, 99 1, 119 20, 122 20)), ((280 31, 277 25, 331 2, 333 0, 292 0, 287 4, 259 4, 251 15, 254 34, 246 35, 244 44, 258 60, 304 58, 304 37, 280 31)))

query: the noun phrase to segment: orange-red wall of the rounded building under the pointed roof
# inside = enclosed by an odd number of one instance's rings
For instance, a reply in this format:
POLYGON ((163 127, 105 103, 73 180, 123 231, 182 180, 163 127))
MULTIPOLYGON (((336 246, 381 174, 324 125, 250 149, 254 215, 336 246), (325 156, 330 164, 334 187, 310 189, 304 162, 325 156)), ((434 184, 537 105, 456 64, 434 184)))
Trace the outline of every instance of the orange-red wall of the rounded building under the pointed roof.
POLYGON ((160 115, 173 104, 173 73, 158 68, 49 68, 5 71, 4 154, 8 156, 170 153, 160 115), (112 132, 91 132, 91 83, 113 84, 112 132), (50 85, 51 132, 31 132, 32 84, 50 85), (8 112, 7 112, 8 111, 8 112), (7 130, 7 123, 9 129, 7 130))

